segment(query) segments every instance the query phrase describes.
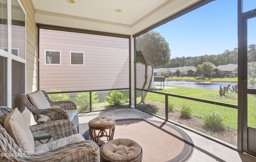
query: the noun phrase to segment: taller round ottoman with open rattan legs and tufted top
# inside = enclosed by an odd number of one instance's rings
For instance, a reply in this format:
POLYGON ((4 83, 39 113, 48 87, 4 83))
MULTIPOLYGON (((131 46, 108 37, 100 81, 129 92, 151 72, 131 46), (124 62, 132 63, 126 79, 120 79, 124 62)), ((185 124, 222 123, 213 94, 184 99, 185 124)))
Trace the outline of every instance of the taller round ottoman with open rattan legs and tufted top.
POLYGON ((91 139, 98 143, 99 138, 105 136, 107 141, 114 137, 116 121, 111 117, 100 116, 88 122, 91 139), (109 130, 107 130, 109 129, 109 130))

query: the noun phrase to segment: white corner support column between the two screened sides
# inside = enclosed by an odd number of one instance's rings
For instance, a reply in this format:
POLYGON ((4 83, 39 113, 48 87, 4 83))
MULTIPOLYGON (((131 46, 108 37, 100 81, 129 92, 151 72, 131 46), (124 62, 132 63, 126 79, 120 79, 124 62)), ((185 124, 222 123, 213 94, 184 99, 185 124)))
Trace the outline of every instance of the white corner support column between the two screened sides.
POLYGON ((135 59, 134 59, 134 55, 135 55, 135 49, 134 49, 134 38, 131 36, 130 38, 130 51, 131 51, 131 55, 130 55, 130 59, 131 59, 131 108, 135 108, 135 59))

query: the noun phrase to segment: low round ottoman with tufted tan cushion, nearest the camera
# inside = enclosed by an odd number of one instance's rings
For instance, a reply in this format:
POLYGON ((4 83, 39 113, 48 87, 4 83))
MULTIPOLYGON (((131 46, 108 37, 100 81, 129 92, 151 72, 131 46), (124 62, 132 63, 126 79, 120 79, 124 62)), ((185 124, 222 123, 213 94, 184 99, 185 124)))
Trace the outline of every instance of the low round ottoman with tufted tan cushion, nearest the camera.
POLYGON ((141 162, 142 148, 134 140, 118 138, 100 148, 100 162, 141 162))

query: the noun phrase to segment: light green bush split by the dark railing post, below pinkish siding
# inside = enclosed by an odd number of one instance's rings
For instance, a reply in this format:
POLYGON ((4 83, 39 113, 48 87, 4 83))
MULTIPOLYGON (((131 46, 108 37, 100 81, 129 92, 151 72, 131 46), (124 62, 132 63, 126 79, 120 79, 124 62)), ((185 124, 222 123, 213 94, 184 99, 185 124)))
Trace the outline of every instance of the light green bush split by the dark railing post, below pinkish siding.
MULTIPOLYGON (((75 99, 77 100, 76 105, 79 113, 90 110, 90 93, 88 92, 78 93, 75 99)), ((99 102, 98 95, 96 95, 95 92, 93 92, 92 104, 95 104, 98 102, 99 102)))

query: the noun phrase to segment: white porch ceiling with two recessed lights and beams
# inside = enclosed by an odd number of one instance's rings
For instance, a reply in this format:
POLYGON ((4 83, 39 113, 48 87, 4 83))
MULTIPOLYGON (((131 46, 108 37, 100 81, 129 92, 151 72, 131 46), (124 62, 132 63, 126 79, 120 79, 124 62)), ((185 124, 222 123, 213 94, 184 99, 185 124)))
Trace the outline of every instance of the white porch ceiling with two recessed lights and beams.
POLYGON ((130 35, 199 0, 74 0, 74 4, 67 0, 31 1, 37 23, 130 35))

